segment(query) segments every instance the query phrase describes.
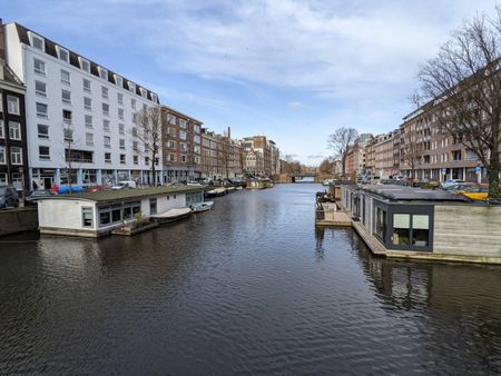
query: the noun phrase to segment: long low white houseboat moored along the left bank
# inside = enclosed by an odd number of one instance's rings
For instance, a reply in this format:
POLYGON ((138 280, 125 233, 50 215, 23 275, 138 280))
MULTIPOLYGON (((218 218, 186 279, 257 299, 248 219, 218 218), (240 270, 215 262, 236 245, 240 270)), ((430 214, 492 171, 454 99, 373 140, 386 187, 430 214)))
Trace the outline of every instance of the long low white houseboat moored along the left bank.
POLYGON ((202 187, 153 187, 50 196, 38 201, 40 234, 99 237, 132 218, 204 200, 202 187))

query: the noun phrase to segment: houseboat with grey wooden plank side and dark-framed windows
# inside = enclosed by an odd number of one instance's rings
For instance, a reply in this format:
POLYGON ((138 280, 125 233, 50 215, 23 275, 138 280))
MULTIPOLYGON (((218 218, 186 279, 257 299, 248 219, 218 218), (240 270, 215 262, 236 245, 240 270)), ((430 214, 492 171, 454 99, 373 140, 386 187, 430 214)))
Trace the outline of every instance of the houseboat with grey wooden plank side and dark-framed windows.
POLYGON ((501 264, 501 206, 441 189, 343 185, 340 206, 374 254, 501 264))

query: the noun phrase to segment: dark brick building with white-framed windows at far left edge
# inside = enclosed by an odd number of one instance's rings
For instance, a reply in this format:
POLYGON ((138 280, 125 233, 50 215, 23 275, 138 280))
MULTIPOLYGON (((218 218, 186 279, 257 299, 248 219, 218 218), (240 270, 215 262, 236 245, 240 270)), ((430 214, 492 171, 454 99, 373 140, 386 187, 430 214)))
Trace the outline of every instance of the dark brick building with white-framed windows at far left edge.
POLYGON ((0 49, 0 186, 3 185, 29 189, 24 87, 0 49))

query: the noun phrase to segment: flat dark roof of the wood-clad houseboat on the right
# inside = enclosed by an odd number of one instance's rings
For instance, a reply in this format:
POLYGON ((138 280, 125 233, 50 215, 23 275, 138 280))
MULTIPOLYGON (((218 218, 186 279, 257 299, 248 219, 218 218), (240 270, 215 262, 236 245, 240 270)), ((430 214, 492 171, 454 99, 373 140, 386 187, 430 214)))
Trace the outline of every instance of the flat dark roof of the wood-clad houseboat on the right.
POLYGON ((422 189, 393 185, 372 185, 362 189, 394 201, 471 201, 468 197, 443 189, 422 189))

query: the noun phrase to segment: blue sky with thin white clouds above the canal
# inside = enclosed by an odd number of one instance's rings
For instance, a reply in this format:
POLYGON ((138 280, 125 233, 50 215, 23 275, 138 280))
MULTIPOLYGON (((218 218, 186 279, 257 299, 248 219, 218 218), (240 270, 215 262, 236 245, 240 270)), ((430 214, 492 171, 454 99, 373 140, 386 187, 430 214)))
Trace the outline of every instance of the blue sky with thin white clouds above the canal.
POLYGON ((420 66, 484 0, 0 0, 16 21, 232 137, 317 165, 338 127, 382 133, 413 110, 420 66))

